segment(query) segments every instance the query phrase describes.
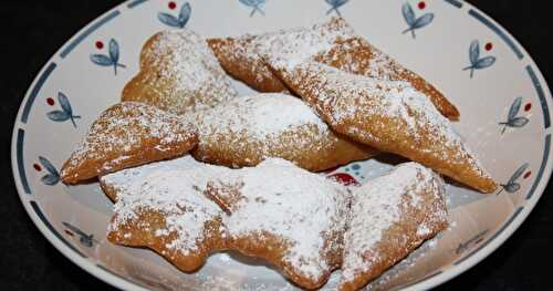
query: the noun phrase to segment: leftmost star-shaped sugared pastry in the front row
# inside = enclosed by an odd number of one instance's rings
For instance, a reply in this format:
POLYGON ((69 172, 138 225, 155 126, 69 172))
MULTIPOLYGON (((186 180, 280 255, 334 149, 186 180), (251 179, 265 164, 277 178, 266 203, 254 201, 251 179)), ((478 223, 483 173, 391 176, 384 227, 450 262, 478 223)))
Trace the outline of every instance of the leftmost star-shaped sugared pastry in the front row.
POLYGON ((223 211, 204 190, 229 170, 187 156, 102 177, 116 197, 107 239, 149 248, 180 270, 196 271, 210 252, 228 248, 223 211))

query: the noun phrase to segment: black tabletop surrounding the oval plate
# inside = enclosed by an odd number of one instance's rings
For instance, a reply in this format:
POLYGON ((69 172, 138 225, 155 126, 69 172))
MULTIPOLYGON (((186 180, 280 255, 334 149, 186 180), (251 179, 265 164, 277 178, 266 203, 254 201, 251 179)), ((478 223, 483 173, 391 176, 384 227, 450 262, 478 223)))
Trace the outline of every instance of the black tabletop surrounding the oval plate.
MULTIPOLYGON (((365 0, 367 1, 367 0, 365 0)), ((3 124, 0 200, 1 290, 106 290, 48 242, 27 216, 11 175, 10 144, 21 100, 49 58, 82 27, 118 1, 0 2, 2 33, 0 77, 3 124), (54 3, 56 2, 56 3, 54 3)), ((509 30, 530 52, 553 85, 553 50, 545 1, 469 1, 509 30)), ((553 197, 550 183, 540 202, 517 232, 486 260, 440 290, 553 290, 553 197)))

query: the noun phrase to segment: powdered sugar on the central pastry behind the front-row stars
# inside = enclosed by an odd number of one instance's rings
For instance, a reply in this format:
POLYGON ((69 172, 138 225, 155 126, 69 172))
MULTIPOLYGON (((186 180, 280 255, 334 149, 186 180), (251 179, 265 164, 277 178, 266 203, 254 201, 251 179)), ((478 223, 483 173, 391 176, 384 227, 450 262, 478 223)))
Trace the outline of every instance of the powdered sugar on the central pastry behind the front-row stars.
POLYGON ((236 98, 201 112, 194 119, 199 128, 199 149, 223 143, 225 147, 233 148, 237 153, 249 153, 244 154, 248 156, 270 157, 284 152, 291 158, 294 150, 285 149, 290 145, 283 142, 292 135, 291 143, 313 150, 337 141, 311 107, 285 94, 255 94, 236 98))

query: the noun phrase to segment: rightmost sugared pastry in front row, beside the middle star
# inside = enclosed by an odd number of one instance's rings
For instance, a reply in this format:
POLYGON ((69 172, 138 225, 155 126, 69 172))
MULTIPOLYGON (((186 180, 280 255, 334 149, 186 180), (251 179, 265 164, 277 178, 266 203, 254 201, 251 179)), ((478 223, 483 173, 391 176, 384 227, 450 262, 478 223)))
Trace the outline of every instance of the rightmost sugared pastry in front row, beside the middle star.
POLYGON ((340 290, 363 288, 448 226, 444 180, 416 163, 353 190, 340 290))

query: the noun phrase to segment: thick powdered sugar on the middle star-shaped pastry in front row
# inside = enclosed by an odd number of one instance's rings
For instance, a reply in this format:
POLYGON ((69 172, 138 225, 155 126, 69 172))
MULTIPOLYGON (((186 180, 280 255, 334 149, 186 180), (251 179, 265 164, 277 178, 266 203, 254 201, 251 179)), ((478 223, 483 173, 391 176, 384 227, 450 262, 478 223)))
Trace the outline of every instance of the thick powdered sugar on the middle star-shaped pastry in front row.
MULTIPOLYGON (((348 194, 343 186, 276 158, 238 172, 243 199, 223 218, 230 235, 274 233, 291 246, 284 260, 305 277, 328 272, 324 256, 338 246, 327 246, 327 240, 332 231, 345 228, 348 194)), ((221 183, 237 180, 223 177, 221 183)))

